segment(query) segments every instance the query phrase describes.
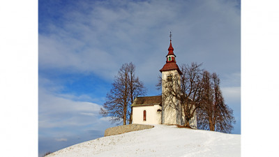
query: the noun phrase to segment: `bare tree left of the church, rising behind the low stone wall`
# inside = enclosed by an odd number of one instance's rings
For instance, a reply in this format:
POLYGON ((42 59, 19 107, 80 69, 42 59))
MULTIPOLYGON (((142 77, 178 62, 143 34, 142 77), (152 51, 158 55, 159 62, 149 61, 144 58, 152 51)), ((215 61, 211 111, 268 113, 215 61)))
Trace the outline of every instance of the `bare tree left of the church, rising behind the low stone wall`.
POLYGON ((130 105, 135 97, 145 93, 144 84, 138 77, 135 77, 135 65, 132 62, 124 63, 114 78, 112 89, 107 93, 106 102, 100 109, 100 114, 103 117, 111 117, 110 120, 113 123, 122 120, 123 125, 131 124, 133 111, 130 105))

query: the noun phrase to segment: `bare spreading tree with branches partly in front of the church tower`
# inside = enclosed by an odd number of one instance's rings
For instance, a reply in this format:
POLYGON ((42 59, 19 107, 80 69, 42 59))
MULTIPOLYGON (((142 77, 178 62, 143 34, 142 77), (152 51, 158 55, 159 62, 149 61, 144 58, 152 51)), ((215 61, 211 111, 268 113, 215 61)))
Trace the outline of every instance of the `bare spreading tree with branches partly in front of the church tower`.
POLYGON ((191 63, 191 65, 183 64, 180 68, 182 75, 176 74, 172 76, 172 80, 161 80, 163 87, 162 97, 167 100, 169 107, 176 108, 182 112, 185 119, 184 126, 190 127, 190 119, 195 116, 195 111, 200 106, 200 91, 202 64, 191 63), (179 100, 180 103, 174 100, 179 100))

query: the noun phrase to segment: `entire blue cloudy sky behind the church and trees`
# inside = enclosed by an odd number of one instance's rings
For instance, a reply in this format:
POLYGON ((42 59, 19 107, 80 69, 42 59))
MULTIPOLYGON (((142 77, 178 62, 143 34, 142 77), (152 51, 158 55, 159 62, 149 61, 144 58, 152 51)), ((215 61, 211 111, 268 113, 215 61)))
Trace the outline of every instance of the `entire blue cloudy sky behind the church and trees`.
POLYGON ((217 73, 241 133, 240 1, 38 1, 39 154, 103 136, 98 114, 119 68, 132 61, 156 90, 169 47, 176 61, 217 73))

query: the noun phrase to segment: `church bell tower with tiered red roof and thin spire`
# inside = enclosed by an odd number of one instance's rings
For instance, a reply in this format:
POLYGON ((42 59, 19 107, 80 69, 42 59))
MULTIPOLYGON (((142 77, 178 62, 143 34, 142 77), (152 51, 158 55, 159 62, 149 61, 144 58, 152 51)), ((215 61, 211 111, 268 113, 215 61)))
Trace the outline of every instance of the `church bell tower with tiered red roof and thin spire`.
POLYGON ((175 98, 169 98, 165 95, 165 84, 172 82, 175 76, 180 81, 181 70, 176 64, 176 55, 174 54, 174 47, 172 47, 172 32, 169 35, 169 49, 167 53, 167 61, 163 68, 160 69, 162 73, 162 124, 180 124, 181 125, 181 111, 179 111, 179 101, 175 98), (172 105, 169 103, 172 102, 172 105), (172 107, 171 107, 172 106, 172 107))

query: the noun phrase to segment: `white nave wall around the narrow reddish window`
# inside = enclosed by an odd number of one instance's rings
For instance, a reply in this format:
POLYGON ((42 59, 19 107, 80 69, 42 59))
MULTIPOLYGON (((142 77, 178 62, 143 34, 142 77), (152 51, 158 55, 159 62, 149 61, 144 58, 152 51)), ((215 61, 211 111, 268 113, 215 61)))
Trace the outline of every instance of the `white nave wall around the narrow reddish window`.
POLYGON ((144 105, 133 107, 133 124, 161 124, 160 105, 144 105), (146 110, 146 121, 144 121, 144 110, 146 110))

